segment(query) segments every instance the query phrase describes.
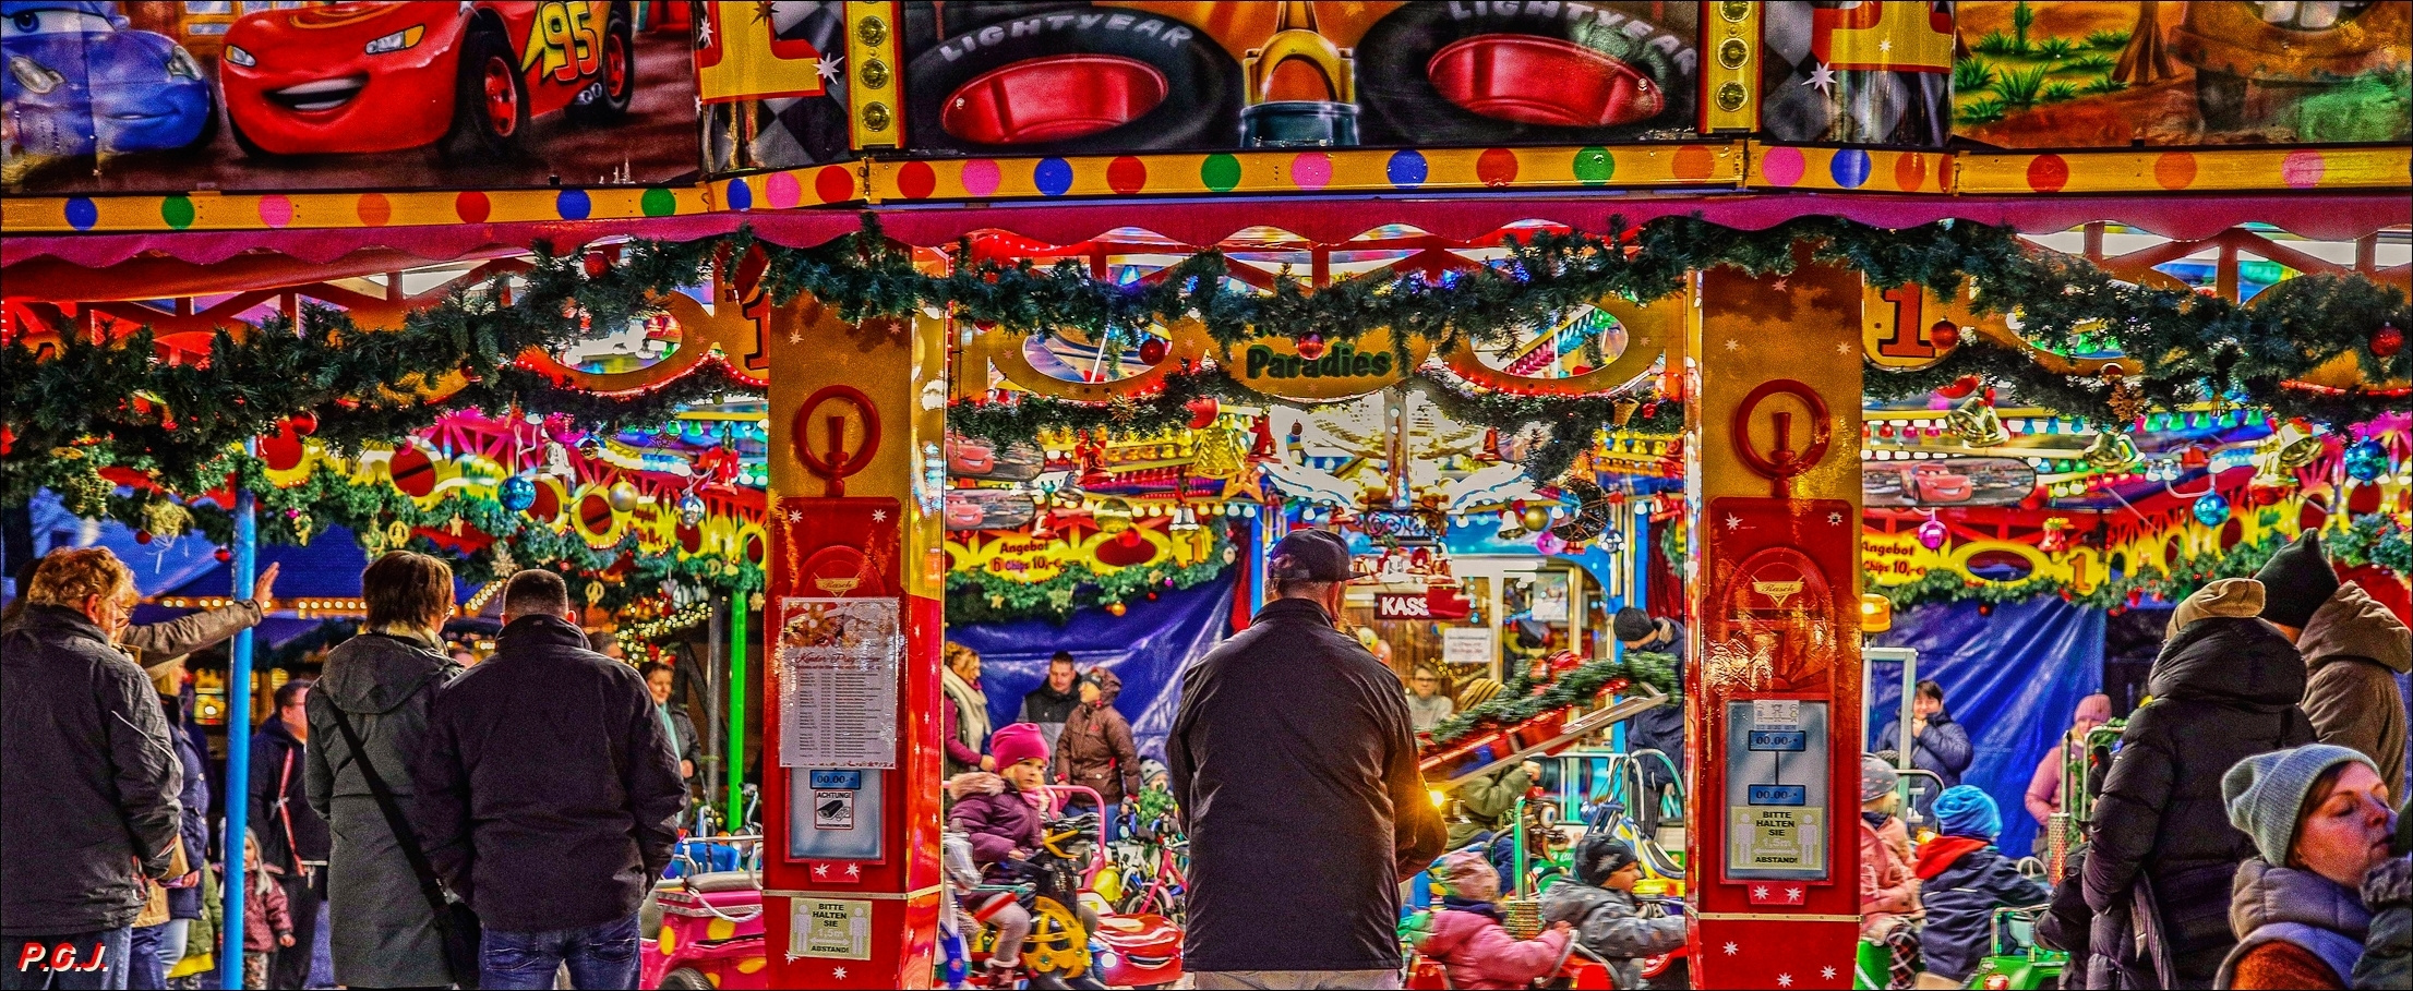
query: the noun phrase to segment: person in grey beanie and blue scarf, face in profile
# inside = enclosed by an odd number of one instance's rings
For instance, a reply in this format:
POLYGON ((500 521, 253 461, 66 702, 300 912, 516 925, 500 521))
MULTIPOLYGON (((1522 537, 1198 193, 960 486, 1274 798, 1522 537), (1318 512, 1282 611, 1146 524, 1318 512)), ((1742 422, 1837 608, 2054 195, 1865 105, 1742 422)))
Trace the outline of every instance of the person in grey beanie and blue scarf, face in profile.
POLYGON ((2220 989, 2345 989, 2372 914, 2362 878, 2389 858, 2396 810, 2370 757, 2329 743, 2254 755, 2220 779, 2230 825, 2254 837, 2237 868, 2220 989))

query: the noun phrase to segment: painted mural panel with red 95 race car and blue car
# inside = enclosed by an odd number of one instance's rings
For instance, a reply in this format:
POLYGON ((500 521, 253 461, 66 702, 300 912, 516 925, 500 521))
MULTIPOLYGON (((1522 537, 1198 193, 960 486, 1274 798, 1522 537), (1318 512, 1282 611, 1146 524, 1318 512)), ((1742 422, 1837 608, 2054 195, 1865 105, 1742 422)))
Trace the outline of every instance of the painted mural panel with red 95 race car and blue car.
POLYGON ((12 193, 615 186, 700 166, 685 2, 0 10, 12 193))

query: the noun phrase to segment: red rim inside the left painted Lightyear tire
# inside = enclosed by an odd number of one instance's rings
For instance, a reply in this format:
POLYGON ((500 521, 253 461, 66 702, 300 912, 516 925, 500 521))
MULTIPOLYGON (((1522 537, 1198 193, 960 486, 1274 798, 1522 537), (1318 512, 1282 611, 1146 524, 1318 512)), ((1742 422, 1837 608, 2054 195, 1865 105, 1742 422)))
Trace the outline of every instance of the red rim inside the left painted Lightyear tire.
POLYGON ((980 145, 1057 142, 1139 121, 1165 92, 1165 75, 1137 58, 1026 58, 956 87, 939 125, 980 145))

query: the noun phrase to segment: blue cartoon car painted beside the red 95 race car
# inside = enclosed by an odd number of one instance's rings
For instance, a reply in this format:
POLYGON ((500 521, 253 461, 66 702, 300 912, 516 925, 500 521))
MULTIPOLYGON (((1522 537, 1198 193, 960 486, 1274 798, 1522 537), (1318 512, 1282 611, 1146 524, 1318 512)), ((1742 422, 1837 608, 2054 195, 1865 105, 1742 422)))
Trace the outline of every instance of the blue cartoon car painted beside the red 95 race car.
POLYGON ((0 58, 7 157, 166 152, 217 130, 200 63, 113 2, 0 2, 0 58))

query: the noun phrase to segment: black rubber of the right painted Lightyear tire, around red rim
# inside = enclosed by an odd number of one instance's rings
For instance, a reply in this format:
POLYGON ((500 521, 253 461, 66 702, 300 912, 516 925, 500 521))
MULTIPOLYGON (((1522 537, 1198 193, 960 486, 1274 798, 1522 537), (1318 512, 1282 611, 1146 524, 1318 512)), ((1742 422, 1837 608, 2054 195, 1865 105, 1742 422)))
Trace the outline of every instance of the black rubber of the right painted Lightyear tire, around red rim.
MULTIPOLYGON (((1641 5, 1617 5, 1619 10, 1641 5)), ((1694 5, 1667 5, 1672 12, 1694 14, 1694 5)), ((1366 145, 1590 145, 1607 140, 1634 140, 1650 130, 1692 130, 1699 89, 1696 70, 1646 72, 1660 87, 1660 111, 1646 121, 1605 128, 1559 128, 1542 123, 1503 121, 1457 106, 1433 87, 1428 65, 1441 48, 1482 34, 1527 34, 1554 41, 1581 39, 1578 29, 1622 34, 1631 22, 1614 27, 1583 27, 1583 17, 1597 17, 1597 7, 1585 5, 1523 5, 1513 14, 1498 5, 1467 2, 1409 2, 1366 29, 1356 46, 1356 89, 1363 116, 1359 137, 1366 145), (1544 7, 1532 14, 1525 7, 1544 7)), ((1665 65, 1696 65, 1692 53, 1699 34, 1694 24, 1653 24, 1638 43, 1658 51, 1665 65), (1675 51, 1675 53, 1670 53, 1675 51)))

